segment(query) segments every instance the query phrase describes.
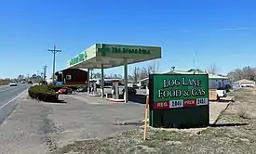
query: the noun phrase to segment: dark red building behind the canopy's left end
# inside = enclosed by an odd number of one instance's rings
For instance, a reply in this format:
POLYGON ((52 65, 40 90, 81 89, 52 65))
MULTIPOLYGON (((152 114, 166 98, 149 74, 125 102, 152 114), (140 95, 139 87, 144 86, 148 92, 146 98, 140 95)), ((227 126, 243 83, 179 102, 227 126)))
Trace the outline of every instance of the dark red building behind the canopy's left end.
POLYGON ((57 81, 63 84, 85 84, 88 81, 88 71, 66 69, 55 73, 57 81))

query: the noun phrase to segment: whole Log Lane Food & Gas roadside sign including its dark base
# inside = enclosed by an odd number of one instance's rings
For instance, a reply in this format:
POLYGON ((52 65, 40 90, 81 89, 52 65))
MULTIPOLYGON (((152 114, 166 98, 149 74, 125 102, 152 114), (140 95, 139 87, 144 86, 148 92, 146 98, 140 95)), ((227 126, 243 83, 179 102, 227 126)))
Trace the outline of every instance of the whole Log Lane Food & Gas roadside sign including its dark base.
POLYGON ((209 124, 208 74, 151 74, 150 125, 209 124))

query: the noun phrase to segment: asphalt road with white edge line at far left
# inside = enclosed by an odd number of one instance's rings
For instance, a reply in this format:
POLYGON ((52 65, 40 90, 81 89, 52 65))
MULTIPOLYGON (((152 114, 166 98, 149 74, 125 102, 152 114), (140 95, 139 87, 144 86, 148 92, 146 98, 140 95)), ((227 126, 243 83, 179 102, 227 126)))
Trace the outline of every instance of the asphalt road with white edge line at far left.
POLYGON ((18 86, 0 86, 0 124, 17 106, 16 99, 30 86, 30 84, 18 84, 18 86))

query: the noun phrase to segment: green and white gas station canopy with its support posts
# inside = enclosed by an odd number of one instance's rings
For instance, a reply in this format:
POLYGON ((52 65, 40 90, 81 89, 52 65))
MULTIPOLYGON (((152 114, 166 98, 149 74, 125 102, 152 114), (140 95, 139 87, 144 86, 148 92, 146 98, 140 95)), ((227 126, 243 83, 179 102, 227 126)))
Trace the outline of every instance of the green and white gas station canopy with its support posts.
POLYGON ((71 58, 68 61, 68 69, 88 69, 88 72, 89 69, 101 69, 101 96, 103 97, 104 69, 124 66, 124 100, 127 103, 128 64, 156 58, 161 58, 161 47, 159 46, 95 44, 71 58))

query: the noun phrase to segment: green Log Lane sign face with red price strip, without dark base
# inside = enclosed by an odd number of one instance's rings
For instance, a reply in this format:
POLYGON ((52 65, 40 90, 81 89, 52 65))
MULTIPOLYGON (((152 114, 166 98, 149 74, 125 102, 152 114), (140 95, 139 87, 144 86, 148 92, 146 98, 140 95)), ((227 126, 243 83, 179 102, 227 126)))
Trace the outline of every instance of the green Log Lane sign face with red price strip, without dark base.
POLYGON ((156 74, 152 109, 192 108, 209 104, 208 75, 156 74))

